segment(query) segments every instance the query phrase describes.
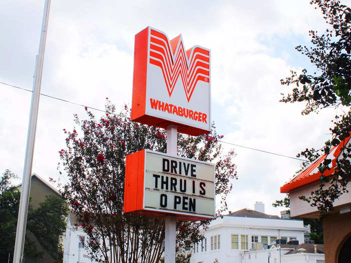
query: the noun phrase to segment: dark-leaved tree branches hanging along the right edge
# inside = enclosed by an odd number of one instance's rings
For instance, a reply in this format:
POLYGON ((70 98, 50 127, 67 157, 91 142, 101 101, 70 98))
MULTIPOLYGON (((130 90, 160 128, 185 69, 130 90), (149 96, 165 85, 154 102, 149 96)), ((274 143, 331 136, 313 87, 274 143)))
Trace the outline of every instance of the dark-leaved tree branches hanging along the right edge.
MULTIPOLYGON (((351 9, 341 5, 338 0, 312 0, 311 5, 320 9, 328 24, 325 33, 309 31, 311 47, 297 46, 296 50, 307 56, 315 68, 314 73, 303 69, 300 74, 291 71, 291 76, 281 80, 282 85, 292 86, 291 93, 281 99, 285 103, 305 102, 301 112, 308 115, 324 108, 336 108, 337 113, 330 128, 330 139, 319 149, 305 149, 297 156, 314 160, 318 154, 328 154, 332 146, 338 145, 349 136, 351 131, 351 9)), ((321 216, 325 216, 332 208, 333 201, 347 192, 350 180, 351 146, 342 143, 341 158, 336 161, 335 172, 325 176, 330 169, 331 157, 326 158, 318 167, 321 172, 320 186, 311 195, 299 198, 316 206, 321 216)))

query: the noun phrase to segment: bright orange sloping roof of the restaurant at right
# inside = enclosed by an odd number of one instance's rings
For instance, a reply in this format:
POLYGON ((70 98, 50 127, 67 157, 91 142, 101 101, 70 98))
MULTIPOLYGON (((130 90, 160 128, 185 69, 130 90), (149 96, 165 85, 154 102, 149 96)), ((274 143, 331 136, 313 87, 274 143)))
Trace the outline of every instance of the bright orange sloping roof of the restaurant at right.
POLYGON ((337 146, 330 147, 329 154, 323 154, 319 156, 318 159, 316 159, 314 162, 312 162, 312 164, 307 166, 302 172, 296 175, 291 181, 289 181, 288 183, 280 187, 280 192, 288 193, 291 190, 294 190, 301 186, 305 186, 307 184, 319 181, 319 178, 322 174, 319 172, 318 167, 327 157, 331 158, 331 164, 328 165, 330 167, 330 170, 325 170, 323 175, 330 176, 334 172, 334 167, 336 166, 336 159, 340 155, 341 148, 344 145, 346 145, 349 138, 350 137, 347 137, 345 140, 340 142, 340 144, 337 146))

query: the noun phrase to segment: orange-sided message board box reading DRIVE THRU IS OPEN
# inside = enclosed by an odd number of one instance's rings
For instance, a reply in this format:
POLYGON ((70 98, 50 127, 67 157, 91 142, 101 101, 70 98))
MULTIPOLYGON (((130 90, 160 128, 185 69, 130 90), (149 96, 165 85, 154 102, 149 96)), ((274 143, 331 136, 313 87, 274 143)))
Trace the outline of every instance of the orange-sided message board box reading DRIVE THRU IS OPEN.
POLYGON ((215 166, 142 150, 126 157, 124 213, 197 221, 215 217, 215 166))

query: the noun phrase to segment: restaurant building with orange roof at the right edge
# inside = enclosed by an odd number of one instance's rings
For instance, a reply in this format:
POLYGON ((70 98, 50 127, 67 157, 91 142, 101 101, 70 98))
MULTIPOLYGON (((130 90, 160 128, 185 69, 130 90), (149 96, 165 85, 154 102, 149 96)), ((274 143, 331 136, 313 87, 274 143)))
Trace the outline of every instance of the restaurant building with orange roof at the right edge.
MULTIPOLYGON (((332 146, 328 155, 323 154, 312 164, 296 175, 288 183, 280 187, 280 192, 290 196, 290 216, 319 218, 320 214, 316 207, 300 200, 301 195, 310 196, 311 191, 320 185, 321 173, 318 166, 325 158, 331 159, 330 170, 323 175, 331 176, 336 167, 336 160, 340 157, 342 147, 348 145, 351 140, 347 137, 338 146, 332 146)), ((350 158, 349 158, 350 159, 350 158)), ((325 188, 328 187, 328 183, 325 188)), ((323 219, 323 237, 325 259, 328 263, 350 262, 351 251, 351 186, 347 185, 348 192, 341 195, 334 203, 334 209, 323 219)))

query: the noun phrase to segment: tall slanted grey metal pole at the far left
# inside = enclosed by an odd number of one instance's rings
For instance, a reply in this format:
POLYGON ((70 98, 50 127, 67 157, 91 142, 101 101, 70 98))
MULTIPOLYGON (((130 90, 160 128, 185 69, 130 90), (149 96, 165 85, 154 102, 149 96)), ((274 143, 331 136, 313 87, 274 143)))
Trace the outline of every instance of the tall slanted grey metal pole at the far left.
POLYGON ((23 262, 23 249, 25 244, 26 227, 27 227, 29 193, 31 188, 33 152, 34 152, 35 134, 36 134, 36 128, 37 128, 37 119, 38 119, 40 88, 42 83, 45 43, 46 43, 46 35, 48 32, 50 2, 51 0, 45 1, 42 32, 41 32, 40 44, 39 44, 39 54, 36 59, 31 112, 29 117, 28 135, 27 135, 25 166, 23 169, 20 208, 19 208, 18 220, 17 220, 16 242, 15 242, 14 261, 13 261, 14 263, 23 262))

